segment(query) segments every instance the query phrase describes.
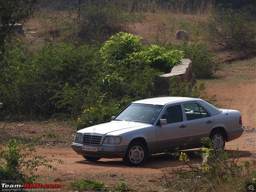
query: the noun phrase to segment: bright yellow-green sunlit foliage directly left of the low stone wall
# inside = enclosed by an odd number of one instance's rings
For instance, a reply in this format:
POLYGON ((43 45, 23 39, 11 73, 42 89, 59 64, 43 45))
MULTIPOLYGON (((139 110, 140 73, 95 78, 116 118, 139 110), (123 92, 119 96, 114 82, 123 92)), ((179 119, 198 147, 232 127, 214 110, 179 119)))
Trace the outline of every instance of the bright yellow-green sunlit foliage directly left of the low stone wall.
POLYGON ((133 36, 120 32, 106 41, 100 52, 105 59, 106 67, 111 70, 118 68, 132 68, 149 66, 161 72, 170 72, 173 66, 180 64, 183 57, 182 52, 177 50, 165 50, 158 45, 143 47, 139 43, 140 36, 133 36))

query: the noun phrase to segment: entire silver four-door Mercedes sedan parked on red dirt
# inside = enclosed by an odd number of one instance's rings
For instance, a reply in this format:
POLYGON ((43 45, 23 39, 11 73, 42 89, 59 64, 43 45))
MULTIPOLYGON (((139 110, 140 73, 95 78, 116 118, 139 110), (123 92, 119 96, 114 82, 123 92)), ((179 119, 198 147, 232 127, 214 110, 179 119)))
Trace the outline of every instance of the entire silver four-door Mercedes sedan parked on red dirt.
POLYGON ((134 101, 111 122, 77 131, 71 148, 89 161, 123 158, 137 166, 152 154, 201 147, 204 137, 221 149, 243 132, 237 110, 219 109, 201 99, 158 97, 134 101))

